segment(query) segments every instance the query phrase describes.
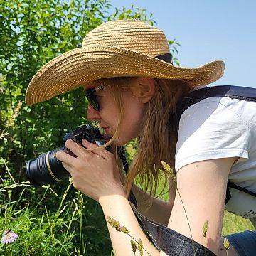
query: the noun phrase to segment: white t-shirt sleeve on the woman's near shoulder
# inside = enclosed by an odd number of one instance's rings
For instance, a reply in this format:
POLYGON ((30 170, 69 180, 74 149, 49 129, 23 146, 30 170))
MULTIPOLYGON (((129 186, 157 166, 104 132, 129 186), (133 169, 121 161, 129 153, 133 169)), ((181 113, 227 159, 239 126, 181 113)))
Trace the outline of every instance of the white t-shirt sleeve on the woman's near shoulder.
POLYGON ((186 164, 208 159, 240 157, 246 161, 250 129, 242 118, 218 100, 188 107, 181 115, 176 144, 176 172, 186 164))

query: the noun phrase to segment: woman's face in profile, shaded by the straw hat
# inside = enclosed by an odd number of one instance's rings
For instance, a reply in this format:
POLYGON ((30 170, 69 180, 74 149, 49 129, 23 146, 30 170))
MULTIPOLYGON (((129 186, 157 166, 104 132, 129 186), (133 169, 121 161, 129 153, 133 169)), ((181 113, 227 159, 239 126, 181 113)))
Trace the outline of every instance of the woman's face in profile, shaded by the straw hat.
MULTIPOLYGON (((145 100, 142 100, 141 93, 137 97, 137 91, 127 89, 122 90, 122 99, 124 105, 124 119, 121 126, 121 134, 117 146, 127 144, 132 139, 138 136, 141 129, 139 122, 142 119, 144 107, 146 107, 145 100)), ((112 137, 117 129, 119 120, 119 110, 117 104, 114 102, 114 97, 108 88, 95 92, 97 100, 100 103, 100 111, 94 110, 90 104, 87 109, 87 119, 96 121, 100 127, 107 128, 105 132, 112 137)))

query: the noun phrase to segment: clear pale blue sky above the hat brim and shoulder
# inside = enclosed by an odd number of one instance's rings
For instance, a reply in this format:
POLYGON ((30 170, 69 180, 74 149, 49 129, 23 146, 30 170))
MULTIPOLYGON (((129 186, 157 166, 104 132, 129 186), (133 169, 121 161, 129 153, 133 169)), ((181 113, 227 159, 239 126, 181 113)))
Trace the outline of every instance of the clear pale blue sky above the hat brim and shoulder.
POLYGON ((256 88, 256 1, 112 0, 153 14, 168 39, 176 38, 181 66, 195 68, 224 60, 225 73, 211 85, 256 88))

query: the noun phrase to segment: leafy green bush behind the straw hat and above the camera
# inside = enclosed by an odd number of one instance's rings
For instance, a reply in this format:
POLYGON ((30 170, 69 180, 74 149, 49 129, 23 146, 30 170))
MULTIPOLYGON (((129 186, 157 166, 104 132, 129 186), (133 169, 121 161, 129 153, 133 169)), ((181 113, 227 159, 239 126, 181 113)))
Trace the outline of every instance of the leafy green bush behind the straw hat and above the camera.
POLYGON ((80 47, 85 34, 102 22, 137 18, 156 23, 152 14, 147 18, 146 9, 133 5, 107 16, 110 6, 109 0, 0 0, 0 130, 5 130, 18 102, 23 103, 16 125, 9 127, 0 149, 1 156, 17 172, 18 181, 23 179, 21 170, 26 159, 63 146, 61 137, 86 122, 82 87, 25 106, 26 87, 36 71, 57 55, 80 47))

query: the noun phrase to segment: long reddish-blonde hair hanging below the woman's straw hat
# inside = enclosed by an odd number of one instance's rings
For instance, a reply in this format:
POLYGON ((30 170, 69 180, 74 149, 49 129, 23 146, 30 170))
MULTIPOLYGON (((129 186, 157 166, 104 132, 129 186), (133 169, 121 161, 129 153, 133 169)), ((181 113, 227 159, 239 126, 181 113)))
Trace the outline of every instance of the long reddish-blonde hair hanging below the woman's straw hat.
MULTIPOLYGON (((119 109, 119 122, 117 130, 107 144, 110 145, 122 132, 120 130, 124 119, 124 106, 122 105, 122 87, 132 87, 136 85, 137 77, 104 78, 95 81, 95 85, 110 85, 110 92, 119 109)), ((175 169, 176 132, 175 124, 171 123, 171 117, 176 114, 176 105, 181 97, 188 95, 194 87, 182 80, 167 80, 154 78, 154 96, 147 103, 147 107, 142 115, 142 129, 137 137, 137 153, 132 159, 129 171, 124 183, 124 189, 129 193, 138 178, 139 184, 144 190, 144 195, 149 191, 150 198, 156 196, 156 189, 159 185, 159 175, 164 174, 167 183, 167 174, 164 173, 161 161, 165 161, 172 170, 175 169)), ((114 152, 117 156, 117 149, 114 152)), ((117 158, 117 157, 116 157, 117 158)), ((120 163, 119 163, 120 164, 120 163)), ((162 191, 164 191, 164 188, 162 191)), ((147 203, 150 203, 148 201, 147 203)))

